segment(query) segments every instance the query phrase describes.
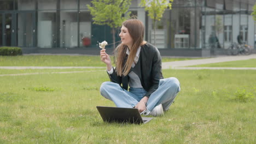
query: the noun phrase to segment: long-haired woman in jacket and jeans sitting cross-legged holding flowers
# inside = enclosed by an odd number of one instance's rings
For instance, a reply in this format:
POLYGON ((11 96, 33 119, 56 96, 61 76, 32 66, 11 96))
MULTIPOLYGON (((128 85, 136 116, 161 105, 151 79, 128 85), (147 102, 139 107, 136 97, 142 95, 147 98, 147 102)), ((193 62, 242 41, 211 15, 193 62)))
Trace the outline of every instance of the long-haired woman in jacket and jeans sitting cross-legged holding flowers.
POLYGON ((115 69, 106 50, 100 53, 111 81, 102 83, 101 95, 114 101, 117 107, 135 107, 144 115, 164 115, 181 89, 179 81, 175 77, 163 79, 160 53, 143 41, 141 21, 124 21, 119 36, 121 44, 115 49, 115 69))

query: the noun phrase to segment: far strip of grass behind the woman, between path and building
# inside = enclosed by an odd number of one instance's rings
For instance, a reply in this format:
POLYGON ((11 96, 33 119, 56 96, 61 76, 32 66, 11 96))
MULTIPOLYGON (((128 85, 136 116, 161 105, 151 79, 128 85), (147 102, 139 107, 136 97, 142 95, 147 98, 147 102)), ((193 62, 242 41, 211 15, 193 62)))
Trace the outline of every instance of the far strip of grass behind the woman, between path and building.
MULTIPOLYGON (((114 58, 112 62, 114 62, 114 58)), ((183 61, 193 58, 162 58, 162 62, 183 61)), ((99 56, 63 56, 63 55, 26 55, 26 56, 0 56, 0 66, 49 66, 49 67, 106 67, 99 56)))

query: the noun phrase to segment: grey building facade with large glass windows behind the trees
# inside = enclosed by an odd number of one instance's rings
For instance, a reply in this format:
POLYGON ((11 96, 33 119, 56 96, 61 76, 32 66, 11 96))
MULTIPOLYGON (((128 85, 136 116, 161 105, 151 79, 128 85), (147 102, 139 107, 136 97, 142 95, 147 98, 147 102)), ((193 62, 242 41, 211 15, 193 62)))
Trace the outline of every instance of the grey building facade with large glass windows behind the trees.
MULTIPOLYGON (((227 49, 240 39, 256 49, 255 0, 174 0, 153 22, 132 0, 130 11, 146 26, 145 40, 158 49, 227 49), (155 40, 155 41, 154 41, 155 40)), ((108 26, 92 23, 88 0, 1 0, 0 46, 30 49, 90 49, 112 43, 108 26)), ((118 31, 115 33, 119 41, 118 31)))

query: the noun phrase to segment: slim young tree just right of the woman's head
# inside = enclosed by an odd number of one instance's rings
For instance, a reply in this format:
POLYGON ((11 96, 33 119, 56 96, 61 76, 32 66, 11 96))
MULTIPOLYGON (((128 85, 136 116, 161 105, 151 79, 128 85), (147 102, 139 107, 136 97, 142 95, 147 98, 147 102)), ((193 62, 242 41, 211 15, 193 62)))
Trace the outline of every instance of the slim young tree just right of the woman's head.
POLYGON ((154 45, 155 45, 155 29, 156 29, 156 21, 160 21, 162 15, 165 12, 165 9, 172 9, 173 0, 141 0, 142 7, 148 11, 148 16, 153 20, 154 27, 154 45))

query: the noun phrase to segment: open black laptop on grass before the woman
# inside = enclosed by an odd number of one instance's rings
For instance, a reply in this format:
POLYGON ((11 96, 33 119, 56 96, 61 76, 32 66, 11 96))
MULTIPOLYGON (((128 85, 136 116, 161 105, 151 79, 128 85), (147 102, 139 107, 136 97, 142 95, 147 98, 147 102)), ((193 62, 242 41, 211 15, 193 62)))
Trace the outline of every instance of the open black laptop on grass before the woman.
POLYGON ((124 107, 96 106, 104 122, 147 123, 153 117, 141 117, 138 109, 124 107))

